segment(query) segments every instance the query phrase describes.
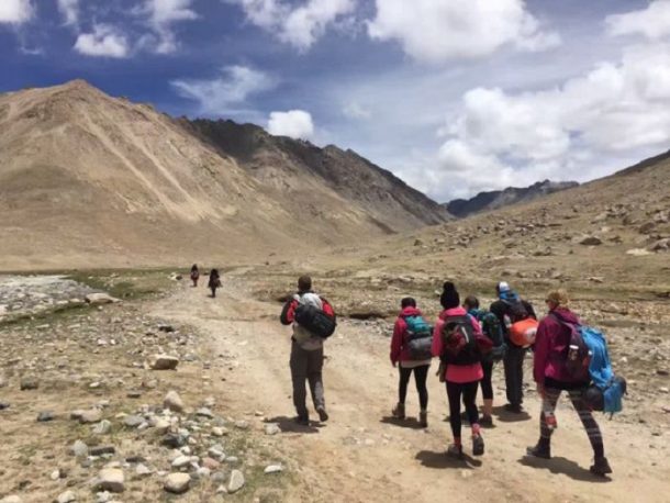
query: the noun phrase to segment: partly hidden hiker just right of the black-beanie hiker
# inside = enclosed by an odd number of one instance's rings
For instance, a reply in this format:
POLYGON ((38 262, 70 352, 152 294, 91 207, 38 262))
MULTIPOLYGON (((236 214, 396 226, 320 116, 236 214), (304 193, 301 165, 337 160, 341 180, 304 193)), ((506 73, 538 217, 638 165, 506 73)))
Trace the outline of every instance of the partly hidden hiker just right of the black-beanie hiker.
POLYGON ((504 358, 507 346, 504 342, 502 325, 498 316, 490 311, 480 310, 477 297, 469 295, 464 302, 464 308, 468 311, 469 315, 477 318, 483 335, 493 344, 491 353, 485 355, 481 362, 481 368, 484 372, 484 377, 481 380, 481 394, 484 400, 484 407, 483 414, 479 420, 481 426, 493 426, 493 383, 491 382, 491 377, 493 375, 493 366, 504 358))

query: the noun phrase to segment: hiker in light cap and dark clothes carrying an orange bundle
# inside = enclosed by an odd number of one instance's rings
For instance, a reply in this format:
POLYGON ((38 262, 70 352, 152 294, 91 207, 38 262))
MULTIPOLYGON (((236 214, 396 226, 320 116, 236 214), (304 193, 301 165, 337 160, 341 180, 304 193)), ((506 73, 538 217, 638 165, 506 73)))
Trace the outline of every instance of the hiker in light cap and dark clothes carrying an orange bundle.
POLYGON ((524 402, 524 358, 526 349, 533 342, 537 327, 537 316, 531 303, 521 299, 506 281, 495 287, 498 300, 489 311, 498 316, 503 328, 507 351, 503 359, 505 368, 505 393, 510 412, 521 413, 524 402))

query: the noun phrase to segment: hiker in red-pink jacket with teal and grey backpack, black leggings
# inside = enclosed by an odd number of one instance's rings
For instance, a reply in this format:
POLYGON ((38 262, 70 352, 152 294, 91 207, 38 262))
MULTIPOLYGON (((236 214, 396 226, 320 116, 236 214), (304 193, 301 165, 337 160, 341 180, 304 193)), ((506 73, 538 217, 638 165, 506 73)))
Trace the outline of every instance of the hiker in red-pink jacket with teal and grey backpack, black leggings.
POLYGON ((418 424, 428 426, 428 390, 426 379, 431 368, 433 327, 423 318, 416 309, 416 301, 411 297, 400 302, 400 314, 393 327, 391 338, 391 364, 393 367, 400 362, 400 382, 398 385, 398 404, 392 411, 394 417, 405 418, 405 399, 407 383, 414 372, 416 391, 418 392, 418 424))

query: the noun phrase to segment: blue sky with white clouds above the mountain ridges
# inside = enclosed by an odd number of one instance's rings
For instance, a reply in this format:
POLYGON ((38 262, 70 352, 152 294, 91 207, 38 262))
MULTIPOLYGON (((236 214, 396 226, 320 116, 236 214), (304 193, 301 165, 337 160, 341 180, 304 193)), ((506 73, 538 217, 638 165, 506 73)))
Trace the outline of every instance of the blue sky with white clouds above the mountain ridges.
POLYGON ((0 91, 83 78, 439 201, 670 147, 670 0, 0 0, 0 91))

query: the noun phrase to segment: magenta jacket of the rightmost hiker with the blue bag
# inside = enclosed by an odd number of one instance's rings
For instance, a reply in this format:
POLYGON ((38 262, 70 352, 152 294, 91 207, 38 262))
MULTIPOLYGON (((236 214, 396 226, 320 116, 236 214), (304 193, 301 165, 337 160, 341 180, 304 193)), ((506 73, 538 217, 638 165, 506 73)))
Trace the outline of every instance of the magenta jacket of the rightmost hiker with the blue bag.
MULTIPOLYGON (((577 315, 566 309, 558 308, 556 313, 565 321, 580 323, 577 315)), ((533 357, 533 377, 535 382, 545 383, 545 378, 559 382, 574 382, 565 368, 566 348, 570 345, 570 328, 559 323, 554 316, 545 316, 537 327, 533 357)))

